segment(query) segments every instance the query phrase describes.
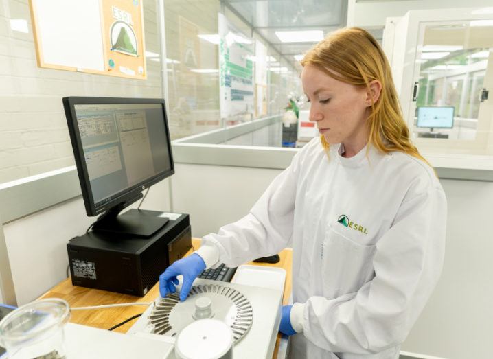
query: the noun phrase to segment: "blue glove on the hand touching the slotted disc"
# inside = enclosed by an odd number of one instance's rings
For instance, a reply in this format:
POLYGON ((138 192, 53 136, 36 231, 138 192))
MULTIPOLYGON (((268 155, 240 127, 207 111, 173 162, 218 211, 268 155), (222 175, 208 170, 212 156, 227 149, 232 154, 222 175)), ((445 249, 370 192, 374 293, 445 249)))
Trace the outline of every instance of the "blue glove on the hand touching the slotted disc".
POLYGON ((188 296, 188 292, 190 292, 190 288, 192 288, 192 283, 204 269, 204 259, 196 253, 177 260, 159 276, 159 293, 161 293, 161 297, 164 298, 166 294, 176 292, 175 284, 179 283, 176 276, 183 275, 180 300, 184 301, 188 296))

